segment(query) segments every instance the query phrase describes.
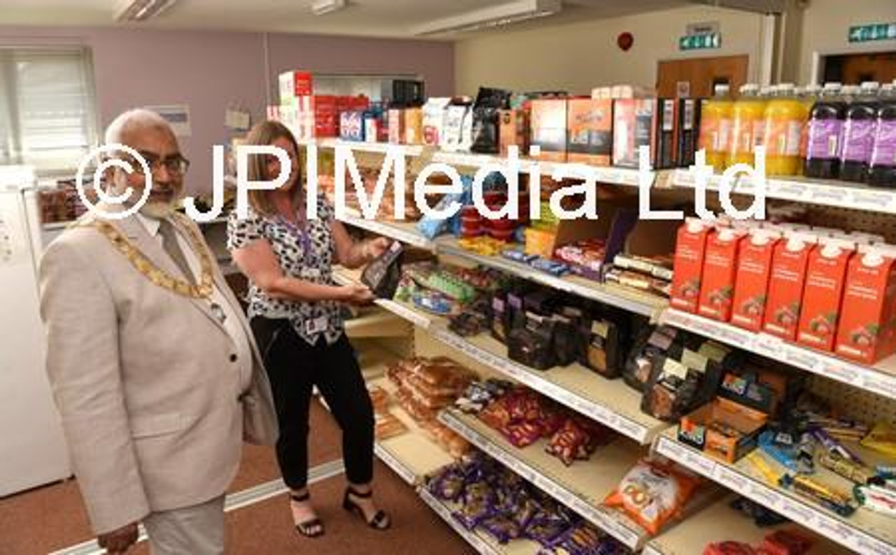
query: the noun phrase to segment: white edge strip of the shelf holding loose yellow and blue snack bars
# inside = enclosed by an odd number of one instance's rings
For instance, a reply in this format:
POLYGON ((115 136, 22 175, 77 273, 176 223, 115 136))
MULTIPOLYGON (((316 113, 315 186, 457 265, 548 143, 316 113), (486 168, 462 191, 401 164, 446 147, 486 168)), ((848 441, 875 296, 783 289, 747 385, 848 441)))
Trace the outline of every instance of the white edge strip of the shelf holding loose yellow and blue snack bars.
POLYGON ((848 520, 840 521, 826 515, 820 508, 791 499, 750 476, 732 470, 726 465, 717 464, 711 458, 704 457, 675 440, 659 438, 657 452, 853 551, 874 555, 892 555, 896 552, 896 546, 850 525, 848 520))

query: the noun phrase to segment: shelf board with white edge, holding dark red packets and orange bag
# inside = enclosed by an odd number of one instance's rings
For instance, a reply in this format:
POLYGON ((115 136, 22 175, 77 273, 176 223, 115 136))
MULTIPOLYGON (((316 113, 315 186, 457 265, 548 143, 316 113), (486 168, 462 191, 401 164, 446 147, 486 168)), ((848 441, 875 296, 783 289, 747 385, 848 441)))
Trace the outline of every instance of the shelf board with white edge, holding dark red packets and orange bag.
POLYGON ((448 409, 439 414, 439 420, 629 549, 641 549, 647 541, 647 534, 630 518, 600 506, 642 456, 641 449, 615 441, 599 448, 589 461, 576 461, 566 467, 545 452, 547 440, 515 448, 475 416, 448 409))

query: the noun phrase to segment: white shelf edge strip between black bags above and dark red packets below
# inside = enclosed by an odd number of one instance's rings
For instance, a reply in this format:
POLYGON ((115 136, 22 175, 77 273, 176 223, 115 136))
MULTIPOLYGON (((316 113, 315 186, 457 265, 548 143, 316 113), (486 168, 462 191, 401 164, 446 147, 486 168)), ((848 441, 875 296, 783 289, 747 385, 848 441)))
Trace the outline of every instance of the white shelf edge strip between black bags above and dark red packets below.
POLYGON ((435 339, 441 341, 447 346, 461 351, 461 353, 470 356, 480 363, 501 371, 514 380, 535 389, 546 397, 551 397, 556 401, 569 406, 573 410, 582 413, 599 423, 606 425, 608 428, 619 431, 626 436, 638 441, 642 445, 650 443, 650 431, 640 423, 633 422, 621 414, 616 414, 606 406, 600 406, 593 401, 579 397, 572 391, 557 386, 550 381, 539 378, 529 369, 520 364, 513 363, 502 356, 492 354, 485 349, 471 344, 469 341, 460 337, 446 329, 436 329, 433 333, 435 339))

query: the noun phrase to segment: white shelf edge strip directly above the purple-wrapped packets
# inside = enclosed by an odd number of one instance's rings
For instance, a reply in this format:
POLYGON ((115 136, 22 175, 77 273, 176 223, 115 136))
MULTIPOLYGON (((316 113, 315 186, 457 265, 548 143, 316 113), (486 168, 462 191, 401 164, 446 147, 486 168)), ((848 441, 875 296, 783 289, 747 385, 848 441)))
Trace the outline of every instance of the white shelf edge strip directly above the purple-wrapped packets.
POLYGON ((623 542, 629 549, 637 550, 641 546, 642 541, 646 540, 646 537, 619 522, 611 512, 591 505, 574 491, 570 491, 564 485, 541 474, 537 469, 519 458, 513 457, 513 454, 509 451, 495 445, 494 442, 483 437, 478 431, 473 430, 466 423, 462 423, 455 418, 453 414, 443 412, 439 414, 439 420, 453 431, 461 434, 470 443, 485 451, 490 457, 495 458, 501 464, 534 484, 539 490, 546 492, 566 507, 572 508, 591 524, 598 526, 607 534, 615 537, 616 540, 623 542))

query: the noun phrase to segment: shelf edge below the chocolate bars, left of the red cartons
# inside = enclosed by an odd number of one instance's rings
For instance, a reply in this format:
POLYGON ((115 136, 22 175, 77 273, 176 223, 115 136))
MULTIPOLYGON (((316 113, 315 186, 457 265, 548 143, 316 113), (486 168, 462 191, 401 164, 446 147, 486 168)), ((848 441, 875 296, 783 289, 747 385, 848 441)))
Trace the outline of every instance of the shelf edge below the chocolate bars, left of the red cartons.
POLYGON ((601 284, 596 281, 578 276, 555 277, 546 272, 532 269, 525 264, 507 260, 497 256, 483 256, 476 252, 468 251, 458 245, 457 239, 444 237, 437 239, 436 252, 473 260, 495 269, 513 274, 523 279, 534 281, 543 286, 553 287, 559 291, 579 295, 587 299, 593 299, 600 303, 625 309, 630 312, 642 314, 650 318, 656 318, 668 302, 655 295, 643 295, 625 287, 614 284, 601 284))

